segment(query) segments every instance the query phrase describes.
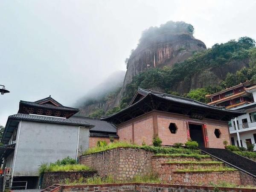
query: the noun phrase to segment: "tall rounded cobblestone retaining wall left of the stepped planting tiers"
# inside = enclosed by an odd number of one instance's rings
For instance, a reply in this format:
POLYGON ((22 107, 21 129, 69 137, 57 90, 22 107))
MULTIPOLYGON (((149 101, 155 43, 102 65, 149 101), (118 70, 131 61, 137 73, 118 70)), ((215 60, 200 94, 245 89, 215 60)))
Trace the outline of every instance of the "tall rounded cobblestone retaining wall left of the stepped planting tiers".
POLYGON ((152 171, 153 153, 143 149, 116 148, 79 157, 79 163, 97 170, 101 177, 112 175, 116 180, 131 180, 134 175, 152 171))

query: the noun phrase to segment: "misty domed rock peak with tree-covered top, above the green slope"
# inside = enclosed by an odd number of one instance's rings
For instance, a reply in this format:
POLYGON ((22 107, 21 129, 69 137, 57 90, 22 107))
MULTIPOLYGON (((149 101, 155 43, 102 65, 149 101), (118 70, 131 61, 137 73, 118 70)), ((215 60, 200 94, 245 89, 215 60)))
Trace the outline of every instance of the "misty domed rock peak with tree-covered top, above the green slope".
POLYGON ((145 30, 137 48, 126 60, 127 71, 122 93, 125 93, 126 86, 139 73, 149 68, 173 66, 194 52, 205 50, 204 42, 195 39, 193 32, 192 25, 173 21, 145 30))

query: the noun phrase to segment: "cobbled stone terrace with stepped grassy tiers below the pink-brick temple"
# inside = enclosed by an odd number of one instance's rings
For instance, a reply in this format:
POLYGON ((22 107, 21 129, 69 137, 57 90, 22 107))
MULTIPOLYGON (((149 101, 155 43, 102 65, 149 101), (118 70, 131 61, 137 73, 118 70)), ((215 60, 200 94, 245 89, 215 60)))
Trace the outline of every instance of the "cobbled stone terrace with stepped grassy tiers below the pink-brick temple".
POLYGON ((201 158, 158 156, 150 151, 133 148, 116 148, 79 157, 79 163, 95 169, 101 177, 112 175, 116 180, 129 181, 135 175, 153 172, 163 182, 170 184, 209 184, 217 181, 237 185, 256 184, 252 177, 239 171, 220 171, 218 168, 226 166, 210 161, 214 160, 207 155, 201 158), (184 172, 183 169, 188 170, 184 172), (243 179, 245 176, 246 179, 243 179))

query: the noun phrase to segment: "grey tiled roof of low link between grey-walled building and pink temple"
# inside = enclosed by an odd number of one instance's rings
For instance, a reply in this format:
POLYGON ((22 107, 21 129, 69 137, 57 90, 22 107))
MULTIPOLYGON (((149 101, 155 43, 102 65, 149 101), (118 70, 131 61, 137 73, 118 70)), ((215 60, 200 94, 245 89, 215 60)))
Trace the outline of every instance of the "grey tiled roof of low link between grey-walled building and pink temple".
POLYGON ((90 132, 104 132, 104 133, 116 133, 116 127, 109 122, 101 121, 100 119, 93 119, 90 117, 84 116, 71 116, 69 119, 84 120, 93 125, 93 128, 90 129, 90 132))

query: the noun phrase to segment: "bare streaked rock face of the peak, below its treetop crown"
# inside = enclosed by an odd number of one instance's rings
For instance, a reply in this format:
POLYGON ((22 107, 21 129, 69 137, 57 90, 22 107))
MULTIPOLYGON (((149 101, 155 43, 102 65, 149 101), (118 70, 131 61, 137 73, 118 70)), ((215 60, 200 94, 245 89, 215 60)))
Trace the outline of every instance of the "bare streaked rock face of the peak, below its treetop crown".
POLYGON ((193 52, 206 49, 204 42, 189 33, 162 34, 149 43, 139 44, 127 62, 122 92, 140 72, 152 67, 172 66, 189 58, 193 52), (155 40, 154 40, 155 39, 155 40))

